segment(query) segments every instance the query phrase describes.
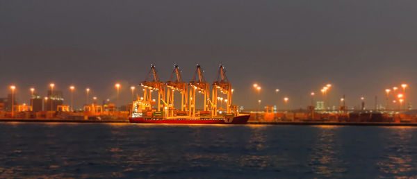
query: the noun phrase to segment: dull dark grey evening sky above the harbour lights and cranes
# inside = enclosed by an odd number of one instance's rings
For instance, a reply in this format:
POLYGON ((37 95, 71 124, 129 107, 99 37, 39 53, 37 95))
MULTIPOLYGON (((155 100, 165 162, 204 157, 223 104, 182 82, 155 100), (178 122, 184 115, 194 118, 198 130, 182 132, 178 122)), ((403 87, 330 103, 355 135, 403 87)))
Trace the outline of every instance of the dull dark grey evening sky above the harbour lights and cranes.
MULTIPOLYGON (((47 84, 76 102, 85 87, 99 99, 145 79, 155 63, 167 80, 174 62, 192 78, 195 64, 206 79, 218 63, 236 89, 234 101, 252 108, 262 85, 268 104, 289 96, 291 106, 309 103, 309 93, 332 83, 333 105, 347 105, 409 83, 416 103, 417 1, 3 1, 0 0, 0 94, 16 84, 28 102, 32 85, 47 84), (281 89, 281 96, 274 93, 281 89), (414 97, 414 96, 416 97, 414 97), (300 102, 302 101, 302 102, 300 102)), ((264 103, 264 104, 265 104, 264 103)))

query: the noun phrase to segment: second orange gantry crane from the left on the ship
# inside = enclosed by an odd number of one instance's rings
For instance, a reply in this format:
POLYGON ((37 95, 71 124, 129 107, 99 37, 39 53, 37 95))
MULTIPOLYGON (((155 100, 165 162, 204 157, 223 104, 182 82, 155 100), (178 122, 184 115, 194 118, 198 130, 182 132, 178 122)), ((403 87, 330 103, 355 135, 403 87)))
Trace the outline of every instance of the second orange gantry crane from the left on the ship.
MULTIPOLYGON (((165 83, 165 86, 167 87, 167 105, 168 108, 170 108, 170 111, 174 110, 174 91, 181 93, 181 112, 188 110, 188 84, 183 82, 178 65, 174 65, 170 80, 165 83), (174 76, 176 79, 172 80, 174 76)), ((170 116, 173 116, 173 112, 171 112, 170 116)))

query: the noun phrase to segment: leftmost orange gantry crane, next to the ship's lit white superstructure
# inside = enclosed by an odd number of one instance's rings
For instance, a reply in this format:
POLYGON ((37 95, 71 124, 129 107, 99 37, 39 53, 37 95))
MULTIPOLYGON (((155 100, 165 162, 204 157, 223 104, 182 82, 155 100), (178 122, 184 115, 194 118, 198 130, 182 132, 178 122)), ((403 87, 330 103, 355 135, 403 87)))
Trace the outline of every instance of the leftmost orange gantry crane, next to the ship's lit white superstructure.
POLYGON ((143 101, 149 103, 149 110, 152 110, 151 104, 154 102, 152 99, 152 92, 158 92, 157 111, 161 111, 161 101, 165 103, 165 87, 164 84, 159 80, 158 74, 156 74, 155 65, 151 65, 151 70, 147 74, 145 81, 140 83, 140 85, 143 87, 143 101))

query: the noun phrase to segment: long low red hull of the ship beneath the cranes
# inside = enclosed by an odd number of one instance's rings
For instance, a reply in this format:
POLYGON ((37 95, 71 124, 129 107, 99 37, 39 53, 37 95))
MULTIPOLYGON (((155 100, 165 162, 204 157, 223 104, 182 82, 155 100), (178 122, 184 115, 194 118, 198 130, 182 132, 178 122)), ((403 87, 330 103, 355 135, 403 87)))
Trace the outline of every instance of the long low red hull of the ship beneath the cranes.
POLYGON ((145 119, 142 117, 131 117, 131 123, 199 123, 199 124, 245 124, 250 115, 234 117, 232 120, 227 119, 145 119))

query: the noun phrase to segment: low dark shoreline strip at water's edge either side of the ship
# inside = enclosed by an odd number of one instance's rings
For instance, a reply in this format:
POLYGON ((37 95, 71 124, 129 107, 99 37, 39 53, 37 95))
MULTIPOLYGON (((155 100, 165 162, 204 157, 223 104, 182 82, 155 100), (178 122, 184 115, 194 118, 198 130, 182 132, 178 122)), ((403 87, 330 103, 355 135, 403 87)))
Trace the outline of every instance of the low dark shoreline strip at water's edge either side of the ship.
MULTIPOLYGON (((69 120, 69 119, 0 119, 0 122, 40 122, 40 123, 129 123, 129 119, 119 120, 69 120)), ((282 126, 417 126, 417 123, 386 123, 386 122, 264 122, 248 121, 250 125, 282 125, 282 126)), ((245 124, 243 124, 245 125, 245 124)))

